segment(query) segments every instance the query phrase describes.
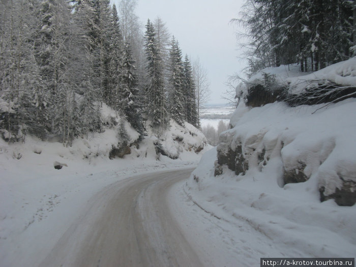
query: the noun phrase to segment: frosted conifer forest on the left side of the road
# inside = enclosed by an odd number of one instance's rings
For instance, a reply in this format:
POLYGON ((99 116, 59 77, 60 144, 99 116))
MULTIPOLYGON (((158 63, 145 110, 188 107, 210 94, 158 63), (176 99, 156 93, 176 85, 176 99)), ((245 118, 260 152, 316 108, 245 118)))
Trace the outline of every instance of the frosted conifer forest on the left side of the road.
POLYGON ((141 137, 147 127, 162 134, 170 118, 198 127, 190 57, 183 58, 160 18, 147 20, 142 31, 135 5, 2 0, 0 135, 70 144, 103 130, 103 103, 141 137))

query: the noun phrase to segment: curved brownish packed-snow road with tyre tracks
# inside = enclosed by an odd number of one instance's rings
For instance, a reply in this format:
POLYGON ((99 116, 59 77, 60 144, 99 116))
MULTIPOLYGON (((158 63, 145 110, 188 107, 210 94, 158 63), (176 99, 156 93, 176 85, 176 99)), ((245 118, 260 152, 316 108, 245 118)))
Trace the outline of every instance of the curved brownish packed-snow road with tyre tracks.
POLYGON ((169 188, 191 172, 155 172, 106 187, 40 266, 202 266, 166 201, 169 188))

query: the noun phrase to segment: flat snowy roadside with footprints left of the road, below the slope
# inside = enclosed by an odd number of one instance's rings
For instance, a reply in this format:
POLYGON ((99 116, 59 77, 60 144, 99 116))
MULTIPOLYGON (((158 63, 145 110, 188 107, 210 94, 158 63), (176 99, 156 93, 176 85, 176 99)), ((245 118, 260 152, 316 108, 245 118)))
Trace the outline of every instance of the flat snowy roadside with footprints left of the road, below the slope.
MULTIPOLYGON (((94 148, 99 144, 96 141, 86 139, 85 143, 94 148)), ((154 147, 145 141, 123 159, 109 160, 103 155, 86 159, 85 154, 79 156, 81 149, 75 143, 64 147, 31 137, 25 143, 10 145, 0 140, 2 267, 38 266, 42 258, 38 255, 47 255, 70 223, 80 216, 88 199, 110 184, 138 173, 194 167, 201 157, 186 152, 176 160, 166 156, 157 160, 154 147), (54 162, 67 166, 57 170, 54 162)), ((100 151, 99 146, 96 149, 100 151)))

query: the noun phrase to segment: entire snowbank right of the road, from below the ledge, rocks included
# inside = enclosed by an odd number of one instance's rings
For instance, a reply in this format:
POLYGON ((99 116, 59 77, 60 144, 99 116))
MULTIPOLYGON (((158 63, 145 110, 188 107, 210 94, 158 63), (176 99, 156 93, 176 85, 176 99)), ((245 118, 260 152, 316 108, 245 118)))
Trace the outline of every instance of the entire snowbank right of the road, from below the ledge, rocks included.
POLYGON ((259 232, 250 243, 269 239, 261 256, 355 256, 356 205, 330 198, 355 200, 356 100, 319 107, 240 103, 186 185, 207 212, 259 232))

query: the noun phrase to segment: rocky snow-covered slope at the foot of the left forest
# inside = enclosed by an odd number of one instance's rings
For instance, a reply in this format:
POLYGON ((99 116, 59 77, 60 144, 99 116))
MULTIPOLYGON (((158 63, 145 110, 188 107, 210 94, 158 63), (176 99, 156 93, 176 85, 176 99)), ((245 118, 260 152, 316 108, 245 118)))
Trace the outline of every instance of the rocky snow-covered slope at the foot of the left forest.
POLYGON ((22 142, 14 143, 0 138, 0 165, 15 160, 18 164, 62 169, 73 162, 98 164, 115 158, 126 161, 181 159, 198 162, 201 155, 211 148, 205 136, 188 123, 180 126, 171 120, 169 129, 162 136, 156 136, 149 128, 147 136, 140 137, 130 122, 105 104, 101 110, 101 121, 104 125, 102 132, 90 132, 74 138, 71 145, 66 146, 55 138, 43 141, 31 135, 25 136, 22 142), (33 157, 37 159, 35 163, 31 161, 33 157))

